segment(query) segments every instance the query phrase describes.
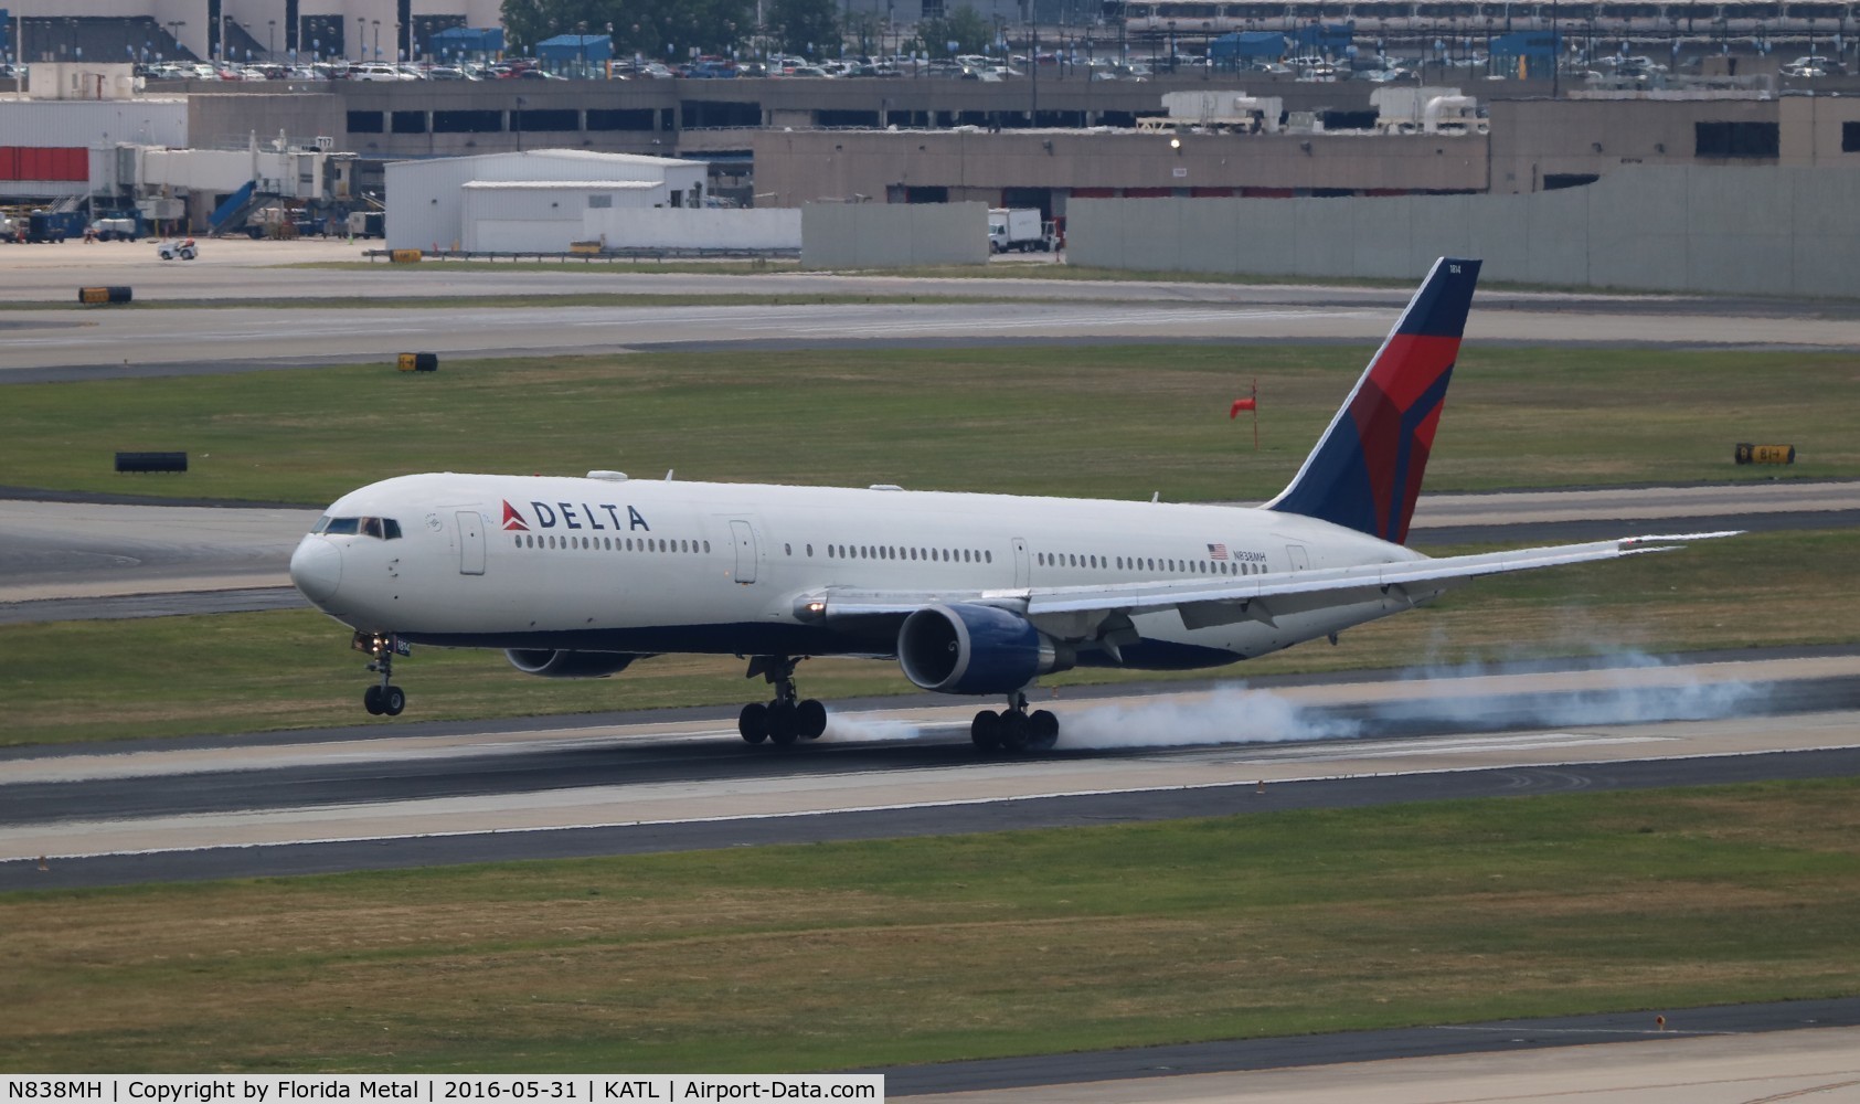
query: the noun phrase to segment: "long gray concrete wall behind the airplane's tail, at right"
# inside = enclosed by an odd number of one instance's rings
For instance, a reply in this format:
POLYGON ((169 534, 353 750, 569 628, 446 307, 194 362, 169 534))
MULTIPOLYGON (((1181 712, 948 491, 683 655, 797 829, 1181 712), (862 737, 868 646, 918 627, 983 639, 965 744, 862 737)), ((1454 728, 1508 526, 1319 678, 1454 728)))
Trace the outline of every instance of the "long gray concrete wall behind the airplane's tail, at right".
POLYGON ((1860 169, 1622 168, 1529 195, 1073 199, 1068 261, 1410 279, 1442 255, 1514 283, 1860 298, 1860 169))

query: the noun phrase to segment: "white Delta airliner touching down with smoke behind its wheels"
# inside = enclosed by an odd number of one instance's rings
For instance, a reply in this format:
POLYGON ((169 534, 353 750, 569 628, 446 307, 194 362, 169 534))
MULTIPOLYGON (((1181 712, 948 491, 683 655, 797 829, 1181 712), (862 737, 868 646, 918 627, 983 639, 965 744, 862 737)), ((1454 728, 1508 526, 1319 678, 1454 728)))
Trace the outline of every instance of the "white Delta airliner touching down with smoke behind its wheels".
POLYGON ((372 655, 363 706, 398 715, 411 644, 502 648, 543 678, 636 659, 750 657, 774 700, 742 739, 826 728, 811 655, 897 659, 915 685, 1004 696, 982 748, 1049 748, 1027 711, 1071 666, 1222 666, 1412 609, 1477 575, 1668 551, 1719 532, 1430 559, 1408 519, 1479 279, 1442 259, 1317 449, 1261 508, 515 475, 405 475, 340 497, 290 577, 372 655))

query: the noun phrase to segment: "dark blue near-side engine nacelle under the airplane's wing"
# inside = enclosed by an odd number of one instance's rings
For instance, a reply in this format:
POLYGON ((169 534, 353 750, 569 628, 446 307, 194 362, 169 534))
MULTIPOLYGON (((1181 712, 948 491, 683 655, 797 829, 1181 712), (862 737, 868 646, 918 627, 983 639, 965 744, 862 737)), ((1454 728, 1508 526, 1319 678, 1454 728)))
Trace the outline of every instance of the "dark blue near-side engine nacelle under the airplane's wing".
POLYGON ((1071 665, 1071 648, 990 605, 926 605, 898 629, 898 666, 926 691, 1012 694, 1071 665))

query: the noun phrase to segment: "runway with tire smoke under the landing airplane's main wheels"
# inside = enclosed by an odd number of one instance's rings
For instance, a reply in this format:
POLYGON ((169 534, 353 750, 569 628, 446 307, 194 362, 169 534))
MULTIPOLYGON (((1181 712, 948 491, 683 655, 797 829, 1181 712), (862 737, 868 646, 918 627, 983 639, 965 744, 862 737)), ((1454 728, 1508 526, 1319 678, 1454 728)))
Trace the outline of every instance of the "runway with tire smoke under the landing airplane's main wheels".
POLYGON ((283 873, 327 843, 318 869, 1843 773, 1854 706, 1860 655, 1823 655, 1097 696, 1053 704, 1062 754, 1023 760, 976 760, 967 702, 837 713, 787 752, 716 713, 28 748, 0 758, 0 888, 283 873))

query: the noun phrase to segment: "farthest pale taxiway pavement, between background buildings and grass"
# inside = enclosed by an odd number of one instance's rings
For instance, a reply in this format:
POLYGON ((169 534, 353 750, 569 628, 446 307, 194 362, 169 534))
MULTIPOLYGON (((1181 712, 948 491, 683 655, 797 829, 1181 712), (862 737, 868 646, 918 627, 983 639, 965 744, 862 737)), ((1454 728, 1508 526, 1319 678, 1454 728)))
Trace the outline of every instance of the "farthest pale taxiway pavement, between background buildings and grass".
MULTIPOLYGON (((134 248, 134 246, 125 246, 134 248)), ((242 372, 391 357, 567 356, 644 348, 822 348, 1010 341, 1358 341, 1375 343, 1412 289, 889 276, 705 276, 484 272, 381 266, 331 274, 255 264, 353 259, 326 244, 214 242, 190 266, 108 248, 35 248, 0 272, 0 303, 46 298, 46 283, 126 283, 171 309, 0 311, 0 382, 242 372), (820 294, 971 302, 521 309, 231 305, 253 298, 445 298, 459 294, 820 294), (212 300, 225 305, 186 305, 212 300), (975 302, 980 300, 980 302, 975 302), (385 348, 385 343, 394 346, 385 348)), ((151 249, 153 257, 153 249, 151 249)), ((69 300, 67 300, 69 302, 69 300)), ((1854 309, 1711 296, 1481 292, 1468 341, 1860 348, 1854 309), (1572 320, 1579 318, 1579 326, 1572 320), (1579 337, 1572 339, 1574 333, 1579 337)))

